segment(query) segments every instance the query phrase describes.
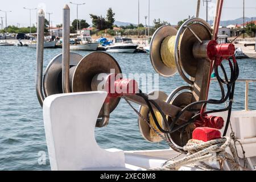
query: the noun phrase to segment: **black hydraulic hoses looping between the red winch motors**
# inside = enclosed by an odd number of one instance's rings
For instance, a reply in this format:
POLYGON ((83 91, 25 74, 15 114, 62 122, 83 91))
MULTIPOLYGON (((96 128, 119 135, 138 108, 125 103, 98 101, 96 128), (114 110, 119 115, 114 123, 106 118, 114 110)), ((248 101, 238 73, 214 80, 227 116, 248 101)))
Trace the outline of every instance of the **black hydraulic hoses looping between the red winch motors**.
MULTIPOLYGON (((232 62, 229 60, 229 67, 230 67, 230 80, 228 80, 228 76, 226 75, 226 71, 224 66, 221 64, 220 67, 222 69, 222 72, 224 74, 224 78, 225 81, 222 80, 222 78, 220 77, 220 75, 218 74, 218 66, 216 65, 214 67, 214 71, 216 72, 216 77, 217 77, 217 81, 218 84, 220 85, 220 89, 221 89, 221 100, 208 100, 208 101, 197 101, 197 102, 193 102, 192 104, 184 107, 183 110, 180 111, 179 114, 177 114, 177 116, 175 117, 175 119, 173 119, 171 125, 169 125, 167 119, 166 119, 166 115, 164 115, 162 109, 158 106, 158 104, 156 104, 156 102, 154 100, 149 100, 148 96, 146 94, 143 94, 141 90, 139 90, 139 94, 137 94, 138 96, 141 96, 144 101, 146 102, 148 109, 150 110, 150 113, 152 115, 152 118, 154 119, 154 122, 156 124, 156 127, 158 127, 159 131, 161 131, 162 133, 164 133, 166 135, 166 137, 168 138, 168 140, 170 140, 171 142, 171 138, 170 138, 170 134, 174 133, 177 130, 183 129, 184 131, 184 127, 195 122, 196 118, 200 116, 199 114, 194 115, 191 119, 189 119, 189 121, 177 126, 175 126, 175 123, 177 121, 177 119, 179 119, 179 117, 184 113, 184 111, 188 110, 189 107, 193 106, 193 105, 198 105, 198 104, 204 104, 205 106, 207 104, 223 104, 224 102, 226 102, 229 98, 230 102, 229 102, 229 106, 224 108, 224 109, 218 109, 218 110, 210 110, 210 111, 205 111, 205 114, 210 114, 210 113, 218 113, 218 112, 223 112, 223 111, 229 111, 228 113, 228 119, 226 122, 226 126, 225 126, 225 130, 224 130, 224 136, 226 135, 226 131, 228 130, 228 126, 229 126, 229 122, 230 122, 230 117, 231 117, 231 111, 232 111, 232 104, 233 104, 233 97, 234 97, 234 89, 235 89, 235 83, 236 80, 239 76, 239 67, 237 62, 235 63, 233 60, 233 64, 232 62), (234 64, 234 65, 233 65, 234 64), (225 84, 227 86, 227 93, 225 95, 225 90, 223 88, 223 85, 225 84), (154 105, 156 107, 156 109, 159 111, 159 113, 162 115, 162 118, 164 120, 164 123, 166 125, 166 128, 168 129, 167 131, 164 130, 160 125, 159 122, 155 116, 154 110, 152 109, 152 105, 154 105)), ((182 135, 182 133, 181 133, 182 135)), ((180 136, 182 138, 182 136, 180 136)))

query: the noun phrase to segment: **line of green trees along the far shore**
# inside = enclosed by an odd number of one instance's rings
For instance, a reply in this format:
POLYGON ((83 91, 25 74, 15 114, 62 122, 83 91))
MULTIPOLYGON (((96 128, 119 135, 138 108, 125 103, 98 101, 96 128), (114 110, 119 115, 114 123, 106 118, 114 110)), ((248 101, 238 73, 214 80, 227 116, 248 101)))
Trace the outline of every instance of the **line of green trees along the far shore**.
MULTIPOLYGON (((89 15, 90 15, 90 18, 92 19, 92 27, 94 27, 96 29, 93 31, 93 34, 102 34, 104 32, 107 32, 110 35, 115 35, 117 33, 117 31, 113 30, 114 27, 118 27, 118 26, 116 24, 114 24, 115 13, 111 7, 106 11, 105 17, 102 15, 94 15, 94 14, 89 14, 89 15)), ((176 28, 179 28, 181 26, 181 24, 183 24, 185 22, 185 20, 187 20, 187 19, 180 20, 177 23, 176 28)), ((79 30, 82 30, 83 28, 90 27, 90 24, 88 22, 86 22, 85 19, 81 19, 81 20, 75 19, 71 23, 71 33, 76 32, 77 22, 79 24, 79 30)), ((144 25, 142 23, 139 25, 129 24, 127 26, 120 26, 119 28, 121 28, 121 30, 118 30, 118 32, 121 33, 122 35, 144 35, 145 29, 149 29, 150 35, 152 35, 152 34, 154 34, 156 29, 158 29, 159 27, 164 26, 164 25, 171 26, 171 24, 167 21, 160 20, 160 19, 154 19, 153 26, 144 27, 144 25)), ((46 32, 46 34, 49 32, 49 27, 50 27, 49 22, 47 19, 45 19, 44 31, 46 32)), ((56 27, 61 28, 62 24, 57 24, 56 27)), ((247 35, 250 35, 250 36, 255 35, 255 24, 253 22, 250 24, 247 24, 245 29, 246 29, 247 35)), ((1 32, 4 33, 5 29, 2 30, 1 32)), ((22 33, 27 34, 30 32, 30 27, 18 28, 16 26, 9 26, 9 27, 7 27, 7 32, 9 32, 9 33, 22 32, 22 33)), ((31 32, 32 33, 36 32, 35 26, 31 27, 31 32)))

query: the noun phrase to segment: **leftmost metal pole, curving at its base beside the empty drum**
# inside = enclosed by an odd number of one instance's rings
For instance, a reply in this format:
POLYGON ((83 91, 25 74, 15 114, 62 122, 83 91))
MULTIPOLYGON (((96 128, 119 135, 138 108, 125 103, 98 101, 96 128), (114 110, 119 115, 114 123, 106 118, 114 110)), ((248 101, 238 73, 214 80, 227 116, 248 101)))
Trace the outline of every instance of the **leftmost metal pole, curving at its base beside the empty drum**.
POLYGON ((41 106, 44 102, 42 90, 43 60, 44 60, 44 11, 38 11, 38 38, 36 44, 36 95, 41 106))

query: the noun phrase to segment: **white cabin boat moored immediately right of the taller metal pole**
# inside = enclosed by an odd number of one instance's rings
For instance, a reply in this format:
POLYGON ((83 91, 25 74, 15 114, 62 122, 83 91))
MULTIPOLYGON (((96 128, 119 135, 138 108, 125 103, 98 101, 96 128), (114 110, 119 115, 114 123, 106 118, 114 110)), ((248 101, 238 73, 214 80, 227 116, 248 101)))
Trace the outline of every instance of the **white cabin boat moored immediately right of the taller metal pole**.
POLYGON ((70 45, 71 50, 96 51, 99 43, 93 42, 92 37, 88 35, 80 35, 75 40, 75 44, 70 45))

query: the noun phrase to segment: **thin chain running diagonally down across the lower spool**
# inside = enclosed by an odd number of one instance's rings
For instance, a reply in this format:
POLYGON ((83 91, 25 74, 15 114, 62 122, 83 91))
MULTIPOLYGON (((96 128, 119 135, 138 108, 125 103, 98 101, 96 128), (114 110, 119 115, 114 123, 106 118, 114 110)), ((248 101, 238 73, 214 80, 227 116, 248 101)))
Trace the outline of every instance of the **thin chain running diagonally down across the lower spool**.
MULTIPOLYGON (((135 107, 133 105, 131 105, 131 103, 127 100, 126 97, 122 97, 122 98, 127 102, 127 104, 129 104, 131 109, 133 109, 135 111, 135 113, 138 114, 138 116, 144 122, 147 123, 147 125, 150 127, 150 129, 152 129, 157 135, 159 135, 159 137, 161 137, 164 141, 166 141, 171 148, 175 148, 176 151, 178 151, 178 152, 180 152, 182 154, 185 154, 185 152, 183 150, 180 150, 179 148, 175 147, 174 144, 172 144, 169 140, 166 139, 166 137, 164 137, 162 134, 160 134, 158 131, 156 131, 156 129, 152 125, 150 125, 149 119, 144 118, 143 115, 141 113, 139 113, 139 111, 137 109, 135 109, 135 107)), ((177 158, 177 157, 175 157, 175 158, 177 158)))

